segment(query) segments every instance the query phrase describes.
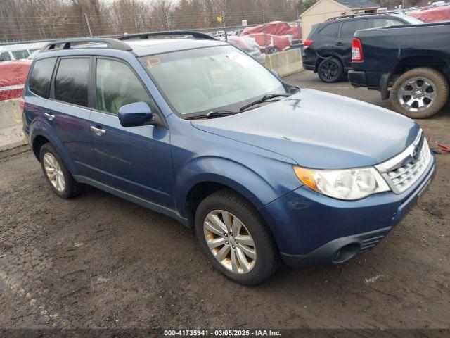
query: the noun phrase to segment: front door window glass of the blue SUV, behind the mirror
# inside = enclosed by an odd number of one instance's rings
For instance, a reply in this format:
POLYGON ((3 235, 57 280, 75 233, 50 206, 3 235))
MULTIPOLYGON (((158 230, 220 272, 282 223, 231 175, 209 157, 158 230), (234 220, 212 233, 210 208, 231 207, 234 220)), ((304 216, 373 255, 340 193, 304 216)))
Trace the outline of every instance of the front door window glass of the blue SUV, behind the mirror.
POLYGON ((134 102, 146 102, 152 111, 156 105, 141 81, 128 65, 108 59, 98 59, 96 67, 96 100, 101 111, 117 115, 120 107, 134 102))

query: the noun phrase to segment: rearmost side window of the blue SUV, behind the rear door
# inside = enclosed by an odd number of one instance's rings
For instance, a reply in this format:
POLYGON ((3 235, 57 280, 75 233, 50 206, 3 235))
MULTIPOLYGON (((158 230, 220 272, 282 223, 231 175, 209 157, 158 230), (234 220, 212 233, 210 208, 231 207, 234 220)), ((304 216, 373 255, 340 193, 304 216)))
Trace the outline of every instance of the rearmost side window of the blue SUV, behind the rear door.
POLYGON ((34 94, 44 97, 44 99, 49 98, 51 75, 55 63, 56 58, 44 58, 36 61, 30 75, 28 87, 34 94))

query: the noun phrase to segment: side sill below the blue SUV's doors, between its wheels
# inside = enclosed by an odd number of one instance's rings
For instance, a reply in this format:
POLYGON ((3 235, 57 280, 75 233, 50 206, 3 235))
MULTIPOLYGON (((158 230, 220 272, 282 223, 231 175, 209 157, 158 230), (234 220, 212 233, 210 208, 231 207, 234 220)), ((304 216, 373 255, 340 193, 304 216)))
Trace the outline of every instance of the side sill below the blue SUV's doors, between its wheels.
POLYGON ((175 220, 178 220, 179 223, 181 223, 185 227, 191 227, 191 222, 189 222, 189 220, 187 218, 181 217, 181 215, 179 215, 179 213, 177 213, 173 209, 166 208, 165 206, 161 206, 160 204, 155 204, 153 202, 147 201, 146 199, 143 199, 139 196, 129 194, 128 192, 124 192, 122 190, 110 187, 107 184, 103 184, 96 180, 92 180, 91 178, 86 177, 86 176, 73 175, 73 178, 75 178, 75 181, 77 181, 79 183, 89 184, 92 187, 96 187, 105 192, 109 192, 110 194, 113 194, 115 196, 122 197, 122 199, 127 199, 128 201, 139 204, 140 206, 143 206, 150 210, 156 211, 157 213, 162 213, 166 216, 174 218, 175 220))

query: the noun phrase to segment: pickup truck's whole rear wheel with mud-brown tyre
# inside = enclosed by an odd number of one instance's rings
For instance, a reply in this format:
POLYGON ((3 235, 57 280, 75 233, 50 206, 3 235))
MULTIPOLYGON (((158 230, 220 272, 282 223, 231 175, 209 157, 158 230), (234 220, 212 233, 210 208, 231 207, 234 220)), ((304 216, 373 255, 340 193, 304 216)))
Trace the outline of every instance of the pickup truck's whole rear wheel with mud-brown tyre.
POLYGON ((414 68, 401 75, 392 86, 394 110, 409 118, 429 118, 444 107, 449 83, 432 68, 414 68))

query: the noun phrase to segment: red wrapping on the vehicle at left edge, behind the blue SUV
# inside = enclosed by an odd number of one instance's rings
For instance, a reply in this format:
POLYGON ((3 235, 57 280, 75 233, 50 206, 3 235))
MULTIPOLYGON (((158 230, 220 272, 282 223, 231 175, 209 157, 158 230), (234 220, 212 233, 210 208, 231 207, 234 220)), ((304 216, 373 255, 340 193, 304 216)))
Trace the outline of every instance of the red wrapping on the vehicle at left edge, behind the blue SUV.
POLYGON ((0 101, 22 96, 31 60, 0 62, 0 101))

